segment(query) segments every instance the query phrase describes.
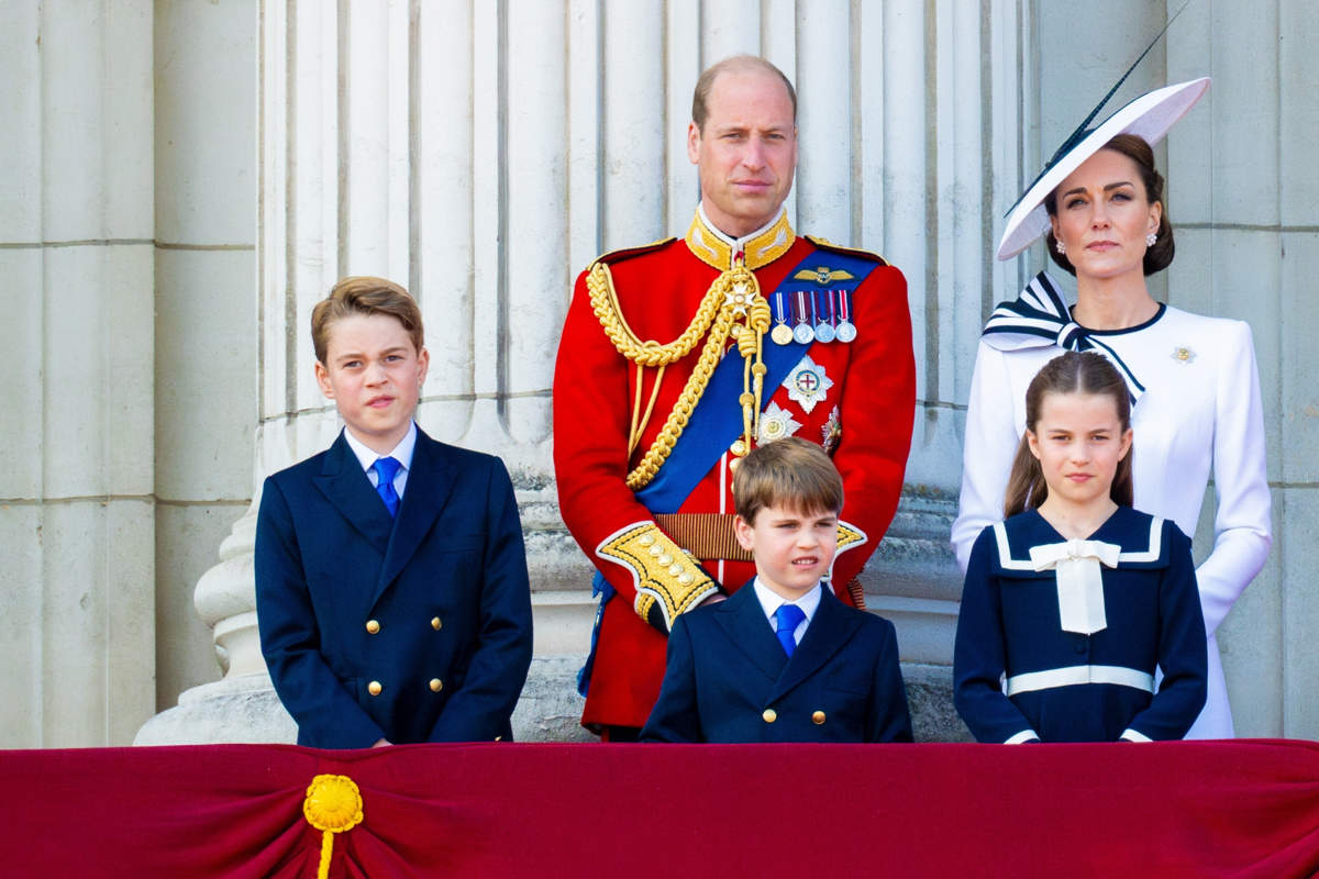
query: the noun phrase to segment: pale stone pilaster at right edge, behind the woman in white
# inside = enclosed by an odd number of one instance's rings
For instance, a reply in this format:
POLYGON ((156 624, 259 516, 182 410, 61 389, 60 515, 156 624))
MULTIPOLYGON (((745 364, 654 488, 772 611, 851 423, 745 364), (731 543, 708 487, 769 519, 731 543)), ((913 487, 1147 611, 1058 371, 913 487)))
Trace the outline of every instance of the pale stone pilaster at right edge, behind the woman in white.
MULTIPOLYGON (((1319 737, 1319 594, 1311 588, 1319 561, 1316 38, 1319 11, 1268 0, 1216 4, 1213 14, 1178 20, 1167 49, 1169 82, 1213 76, 1204 107, 1169 138, 1178 231, 1169 300, 1249 322, 1264 394, 1273 551, 1219 629, 1237 735, 1319 737)), ((1198 555, 1213 546, 1212 492, 1195 534, 1198 555)))

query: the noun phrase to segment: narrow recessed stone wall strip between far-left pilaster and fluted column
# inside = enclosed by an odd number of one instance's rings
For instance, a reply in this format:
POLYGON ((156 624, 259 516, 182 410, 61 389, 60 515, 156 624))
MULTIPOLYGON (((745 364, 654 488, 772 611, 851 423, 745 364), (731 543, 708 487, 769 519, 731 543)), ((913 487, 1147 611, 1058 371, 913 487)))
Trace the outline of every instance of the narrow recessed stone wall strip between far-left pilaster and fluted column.
POLYGON ((193 592, 252 497, 256 30, 244 3, 156 8, 156 695, 215 680, 193 592))

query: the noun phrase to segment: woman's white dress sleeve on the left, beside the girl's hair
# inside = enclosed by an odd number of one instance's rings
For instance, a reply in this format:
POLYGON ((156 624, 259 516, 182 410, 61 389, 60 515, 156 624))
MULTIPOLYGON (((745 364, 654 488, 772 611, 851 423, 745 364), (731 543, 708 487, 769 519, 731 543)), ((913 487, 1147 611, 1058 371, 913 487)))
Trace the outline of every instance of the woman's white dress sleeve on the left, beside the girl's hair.
POLYGON ((981 341, 971 376, 962 443, 962 497, 952 523, 952 551, 963 575, 980 531, 1002 521, 1002 496, 1020 443, 1016 411, 1006 357, 981 341))

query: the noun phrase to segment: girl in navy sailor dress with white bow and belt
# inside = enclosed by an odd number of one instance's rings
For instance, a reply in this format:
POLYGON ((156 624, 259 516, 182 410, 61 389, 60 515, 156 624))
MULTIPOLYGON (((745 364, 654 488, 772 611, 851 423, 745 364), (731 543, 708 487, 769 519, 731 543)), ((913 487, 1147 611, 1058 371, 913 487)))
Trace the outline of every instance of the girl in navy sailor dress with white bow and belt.
POLYGON ((1130 507, 1126 385, 1067 352, 1031 381, 1026 424, 1008 518, 967 565, 958 713, 980 742, 1182 738, 1206 698, 1204 618, 1190 539, 1130 507))

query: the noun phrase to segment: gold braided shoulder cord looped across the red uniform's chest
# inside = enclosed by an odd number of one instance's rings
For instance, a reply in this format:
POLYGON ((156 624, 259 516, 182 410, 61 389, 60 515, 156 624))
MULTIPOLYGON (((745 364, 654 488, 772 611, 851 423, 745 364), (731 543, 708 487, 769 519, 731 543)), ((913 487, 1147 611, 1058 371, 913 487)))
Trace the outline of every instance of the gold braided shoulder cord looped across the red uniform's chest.
POLYGON ((674 444, 682 436, 692 410, 706 393, 706 385, 714 373, 719 358, 724 353, 728 336, 737 343, 737 352, 747 361, 743 372, 743 393, 739 403, 743 409, 743 451, 751 451, 752 441, 760 431, 761 391, 764 389, 765 364, 761 361, 761 340, 773 316, 769 303, 760 295, 760 285, 756 275, 739 260, 732 269, 721 273, 710 285, 695 318, 678 339, 669 344, 660 344, 654 340, 641 341, 628 326, 619 306, 619 295, 613 287, 613 275, 609 266, 596 262, 586 277, 586 286, 591 294, 591 307, 600 320, 605 335, 620 354, 637 365, 637 399, 632 410, 632 427, 629 432, 629 455, 645 431, 646 423, 654 407, 656 397, 660 393, 660 381, 663 378, 663 368, 682 357, 686 357, 706 337, 706 344, 700 351, 700 360, 692 369, 691 377, 682 389, 678 402, 665 420, 663 428, 656 436, 654 443, 646 451, 641 463, 628 473, 628 488, 636 492, 644 488, 660 467, 669 459, 674 444), (743 323, 739 323, 739 318, 743 323), (657 368, 654 386, 650 394, 650 405, 645 415, 641 416, 641 383, 644 370, 648 366, 657 368))

